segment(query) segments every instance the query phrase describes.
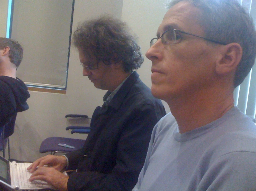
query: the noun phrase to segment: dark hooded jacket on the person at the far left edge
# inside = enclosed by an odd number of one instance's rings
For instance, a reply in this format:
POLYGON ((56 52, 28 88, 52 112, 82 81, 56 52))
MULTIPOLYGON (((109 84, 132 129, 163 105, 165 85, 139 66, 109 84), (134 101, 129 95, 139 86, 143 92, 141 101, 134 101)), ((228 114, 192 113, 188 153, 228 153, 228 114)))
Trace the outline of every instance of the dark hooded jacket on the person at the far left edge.
MULTIPOLYGON (((0 127, 6 125, 17 112, 28 109, 27 99, 30 94, 20 79, 0 76, 0 127)), ((0 128, 1 133, 1 128, 0 128)), ((9 135, 13 133, 10 130, 9 135)))

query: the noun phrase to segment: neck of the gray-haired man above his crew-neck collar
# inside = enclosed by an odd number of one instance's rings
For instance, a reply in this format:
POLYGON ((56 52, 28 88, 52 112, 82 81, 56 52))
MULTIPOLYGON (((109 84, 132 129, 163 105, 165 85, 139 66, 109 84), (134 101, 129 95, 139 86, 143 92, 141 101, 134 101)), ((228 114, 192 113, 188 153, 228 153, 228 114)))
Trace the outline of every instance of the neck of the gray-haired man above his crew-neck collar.
POLYGON ((219 118, 234 106, 233 91, 197 96, 187 96, 169 100, 167 103, 179 126, 184 133, 202 127, 219 118))

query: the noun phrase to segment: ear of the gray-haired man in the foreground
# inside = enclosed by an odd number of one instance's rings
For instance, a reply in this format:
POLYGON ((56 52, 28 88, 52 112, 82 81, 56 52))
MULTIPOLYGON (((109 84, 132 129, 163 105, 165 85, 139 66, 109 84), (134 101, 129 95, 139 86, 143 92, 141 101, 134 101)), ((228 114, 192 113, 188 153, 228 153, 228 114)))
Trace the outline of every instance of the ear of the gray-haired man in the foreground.
POLYGON ((230 43, 219 49, 220 57, 216 63, 216 72, 225 74, 236 71, 236 68, 242 58, 242 47, 238 43, 230 43))

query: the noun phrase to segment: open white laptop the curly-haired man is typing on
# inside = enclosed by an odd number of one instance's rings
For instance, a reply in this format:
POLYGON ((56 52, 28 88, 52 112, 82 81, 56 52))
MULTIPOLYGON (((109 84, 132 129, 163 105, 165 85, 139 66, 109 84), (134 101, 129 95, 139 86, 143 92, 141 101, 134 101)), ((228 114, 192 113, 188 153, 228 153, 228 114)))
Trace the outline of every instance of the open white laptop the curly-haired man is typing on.
POLYGON ((47 182, 41 180, 28 181, 31 173, 27 170, 27 167, 30 164, 32 163, 10 162, 0 156, 0 185, 16 191, 37 191, 46 188, 55 190, 47 182))

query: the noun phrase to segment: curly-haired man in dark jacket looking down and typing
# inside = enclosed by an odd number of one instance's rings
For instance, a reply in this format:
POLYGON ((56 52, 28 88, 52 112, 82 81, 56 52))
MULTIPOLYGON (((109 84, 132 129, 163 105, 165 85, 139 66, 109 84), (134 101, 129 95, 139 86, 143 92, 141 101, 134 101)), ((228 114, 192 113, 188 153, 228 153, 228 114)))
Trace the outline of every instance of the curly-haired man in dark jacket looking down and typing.
POLYGON ((47 181, 61 191, 131 190, 143 166, 152 129, 166 114, 164 106, 134 71, 144 59, 124 22, 109 17, 83 22, 74 32, 73 44, 83 76, 96 88, 108 90, 104 104, 83 148, 36 160, 28 168, 33 172, 30 180, 47 181), (67 177, 59 172, 62 170, 75 172, 67 177))

